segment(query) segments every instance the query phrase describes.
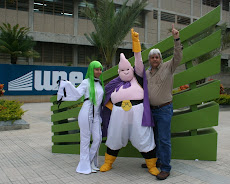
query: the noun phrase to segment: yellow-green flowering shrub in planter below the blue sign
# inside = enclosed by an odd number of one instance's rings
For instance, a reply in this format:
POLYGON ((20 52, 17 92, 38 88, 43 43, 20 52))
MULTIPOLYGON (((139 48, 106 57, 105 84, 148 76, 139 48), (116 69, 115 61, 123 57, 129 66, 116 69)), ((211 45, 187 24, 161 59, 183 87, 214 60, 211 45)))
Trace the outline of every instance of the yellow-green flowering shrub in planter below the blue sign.
POLYGON ((23 103, 19 101, 0 100, 0 121, 21 119, 22 115, 26 112, 21 106, 23 103))

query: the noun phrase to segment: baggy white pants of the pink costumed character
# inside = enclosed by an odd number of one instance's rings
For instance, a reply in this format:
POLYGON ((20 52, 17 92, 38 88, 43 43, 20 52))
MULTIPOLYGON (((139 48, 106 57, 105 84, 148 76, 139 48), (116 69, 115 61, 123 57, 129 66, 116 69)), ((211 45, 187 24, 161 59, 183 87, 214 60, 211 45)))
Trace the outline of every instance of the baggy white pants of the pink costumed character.
POLYGON ((128 140, 140 152, 149 152, 155 148, 152 127, 142 126, 143 103, 134 105, 129 111, 113 106, 110 117, 106 146, 112 150, 125 147, 128 140))

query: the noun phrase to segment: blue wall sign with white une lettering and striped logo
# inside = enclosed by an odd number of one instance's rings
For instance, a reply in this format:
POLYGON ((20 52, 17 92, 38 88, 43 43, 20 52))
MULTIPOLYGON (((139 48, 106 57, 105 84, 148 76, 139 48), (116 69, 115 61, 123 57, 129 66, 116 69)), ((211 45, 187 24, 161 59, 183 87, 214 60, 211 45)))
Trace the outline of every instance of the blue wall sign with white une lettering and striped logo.
POLYGON ((4 84, 5 95, 53 95, 59 79, 76 86, 86 72, 87 67, 0 64, 0 84, 4 84))

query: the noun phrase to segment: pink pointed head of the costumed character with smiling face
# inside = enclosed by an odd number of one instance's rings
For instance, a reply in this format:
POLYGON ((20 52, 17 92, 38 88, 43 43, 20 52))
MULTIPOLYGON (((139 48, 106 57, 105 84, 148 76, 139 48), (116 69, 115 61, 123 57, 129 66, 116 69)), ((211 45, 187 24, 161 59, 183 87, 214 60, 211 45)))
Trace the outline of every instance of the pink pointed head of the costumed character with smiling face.
POLYGON ((122 81, 131 81, 133 79, 134 69, 123 53, 120 54, 118 67, 118 74, 122 81))

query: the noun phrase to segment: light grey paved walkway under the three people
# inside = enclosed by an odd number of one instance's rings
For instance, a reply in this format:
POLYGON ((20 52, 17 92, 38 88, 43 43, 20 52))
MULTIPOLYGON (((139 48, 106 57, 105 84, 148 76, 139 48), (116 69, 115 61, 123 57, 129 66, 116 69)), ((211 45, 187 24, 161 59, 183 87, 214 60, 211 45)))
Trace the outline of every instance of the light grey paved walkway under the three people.
MULTIPOLYGON (((23 119, 30 129, 0 132, 0 184, 147 184, 147 183, 230 183, 230 108, 221 108, 217 161, 172 160, 172 172, 158 181, 140 165, 141 158, 117 158, 106 173, 78 174, 79 155, 51 152, 51 103, 28 103, 23 119)), ((99 158, 100 163, 104 157, 99 158)))

